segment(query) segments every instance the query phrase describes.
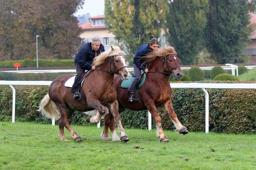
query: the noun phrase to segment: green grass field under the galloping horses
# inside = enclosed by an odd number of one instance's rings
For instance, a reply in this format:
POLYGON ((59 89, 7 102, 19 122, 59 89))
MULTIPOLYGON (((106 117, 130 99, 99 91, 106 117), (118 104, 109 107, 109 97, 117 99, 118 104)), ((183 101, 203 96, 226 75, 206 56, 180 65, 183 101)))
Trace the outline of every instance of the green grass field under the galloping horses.
POLYGON ((254 134, 165 131, 160 143, 155 130, 125 129, 127 143, 102 140, 101 128, 72 126, 78 143, 58 139, 58 126, 0 122, 0 169, 256 169, 254 134))

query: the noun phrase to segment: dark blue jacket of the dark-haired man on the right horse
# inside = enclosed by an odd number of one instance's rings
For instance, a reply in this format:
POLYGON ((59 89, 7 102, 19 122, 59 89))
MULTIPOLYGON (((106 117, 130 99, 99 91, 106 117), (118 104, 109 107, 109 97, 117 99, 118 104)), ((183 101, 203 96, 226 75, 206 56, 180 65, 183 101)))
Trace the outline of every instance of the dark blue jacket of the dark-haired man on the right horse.
POLYGON ((153 49, 149 47, 149 44, 143 44, 142 46, 140 46, 140 48, 138 48, 135 57, 133 59, 133 64, 136 64, 136 66, 140 69, 140 70, 145 70, 146 67, 142 65, 142 63, 144 62, 143 60, 140 60, 141 57, 147 55, 149 52, 152 52, 153 49))

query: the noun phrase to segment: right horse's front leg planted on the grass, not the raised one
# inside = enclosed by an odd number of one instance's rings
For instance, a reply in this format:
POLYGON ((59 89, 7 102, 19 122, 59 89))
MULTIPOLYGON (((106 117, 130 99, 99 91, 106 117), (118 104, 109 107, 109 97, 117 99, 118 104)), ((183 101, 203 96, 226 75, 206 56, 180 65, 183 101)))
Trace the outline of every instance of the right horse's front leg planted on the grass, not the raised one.
POLYGON ((169 142, 169 139, 167 139, 167 137, 164 134, 164 131, 162 129, 161 117, 159 116, 159 113, 157 112, 157 107, 155 107, 154 102, 148 101, 146 103, 146 107, 148 108, 149 112, 152 114, 152 116, 155 119, 155 123, 157 124, 157 137, 160 137, 160 142, 169 142))

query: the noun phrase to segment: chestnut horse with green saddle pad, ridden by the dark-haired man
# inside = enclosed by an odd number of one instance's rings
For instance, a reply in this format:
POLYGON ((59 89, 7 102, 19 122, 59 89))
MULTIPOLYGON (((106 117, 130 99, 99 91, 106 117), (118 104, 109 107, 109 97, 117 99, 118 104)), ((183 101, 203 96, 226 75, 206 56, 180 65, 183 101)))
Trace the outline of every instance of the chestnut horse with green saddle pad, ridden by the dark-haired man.
MULTIPOLYGON (((187 134, 188 130, 178 120, 176 113, 173 110, 171 95, 172 89, 170 87, 169 76, 172 75, 175 79, 181 79, 183 72, 179 66, 179 58, 175 48, 171 46, 163 47, 157 51, 142 57, 144 64, 148 65, 149 72, 146 75, 144 85, 139 89, 139 94, 143 103, 137 101, 136 103, 128 102, 129 95, 127 95, 127 88, 122 88, 120 85, 122 79, 114 78, 114 86, 117 91, 117 100, 119 101, 119 113, 123 110, 149 110, 155 119, 157 125, 157 136, 160 137, 160 142, 169 142, 161 126, 161 118, 157 112, 158 106, 163 107, 172 118, 176 130, 180 134, 187 134)), ((112 136, 115 136, 113 116, 106 115, 104 122, 104 129, 102 132, 102 139, 108 139, 108 127, 110 128, 112 136)))

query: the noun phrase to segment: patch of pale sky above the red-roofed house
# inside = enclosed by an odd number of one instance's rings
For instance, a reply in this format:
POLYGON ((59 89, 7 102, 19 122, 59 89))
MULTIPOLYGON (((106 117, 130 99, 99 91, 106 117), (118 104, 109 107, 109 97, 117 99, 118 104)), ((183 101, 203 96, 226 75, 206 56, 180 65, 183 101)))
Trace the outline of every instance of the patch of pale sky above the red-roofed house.
POLYGON ((79 9, 74 16, 82 16, 90 13, 90 16, 98 16, 104 14, 104 0, 84 0, 83 9, 79 9))

